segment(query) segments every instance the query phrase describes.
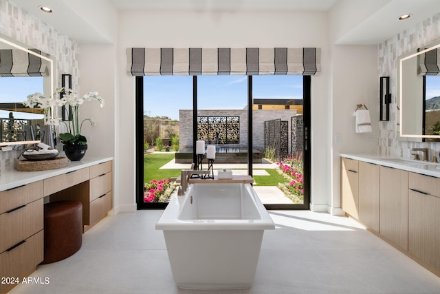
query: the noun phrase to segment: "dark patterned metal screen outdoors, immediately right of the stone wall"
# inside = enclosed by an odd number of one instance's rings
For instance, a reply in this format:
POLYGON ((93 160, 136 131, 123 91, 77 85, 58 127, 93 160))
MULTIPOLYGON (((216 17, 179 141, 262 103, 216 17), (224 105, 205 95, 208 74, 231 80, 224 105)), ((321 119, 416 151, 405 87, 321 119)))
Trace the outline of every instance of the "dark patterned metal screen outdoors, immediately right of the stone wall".
POLYGON ((289 154, 289 122, 276 120, 267 120, 264 122, 264 147, 273 148, 275 158, 281 161, 289 154))

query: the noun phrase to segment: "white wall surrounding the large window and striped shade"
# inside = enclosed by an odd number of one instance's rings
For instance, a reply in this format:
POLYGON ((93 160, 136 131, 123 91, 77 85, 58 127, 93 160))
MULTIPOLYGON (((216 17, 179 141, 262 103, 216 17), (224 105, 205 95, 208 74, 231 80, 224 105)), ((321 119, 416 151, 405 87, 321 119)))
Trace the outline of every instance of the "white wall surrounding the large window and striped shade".
POLYGON ((329 209, 331 172, 326 151, 330 122, 327 113, 327 15, 325 12, 122 12, 118 42, 120 92, 117 107, 120 123, 116 138, 120 139, 115 156, 120 177, 119 211, 135 210, 134 78, 125 73, 126 48, 322 48, 322 74, 311 78, 312 85, 312 202, 315 208, 329 209), (129 147, 122 151, 122 146, 129 147))

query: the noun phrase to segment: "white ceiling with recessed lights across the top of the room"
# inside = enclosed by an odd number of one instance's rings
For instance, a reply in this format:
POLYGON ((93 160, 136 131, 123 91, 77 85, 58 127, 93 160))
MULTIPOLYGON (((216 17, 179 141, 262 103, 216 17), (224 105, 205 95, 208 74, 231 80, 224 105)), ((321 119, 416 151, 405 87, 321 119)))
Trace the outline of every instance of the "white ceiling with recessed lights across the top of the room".
MULTIPOLYGON (((108 28, 121 10, 327 12, 330 42, 353 45, 381 43, 440 12, 440 0, 16 0, 15 3, 78 43, 112 43, 108 28), (49 6, 54 13, 39 11, 39 5, 49 6), (398 21, 397 17, 404 13, 412 13, 412 17, 398 21)), ((117 23, 114 25, 113 31, 117 30, 117 23)))

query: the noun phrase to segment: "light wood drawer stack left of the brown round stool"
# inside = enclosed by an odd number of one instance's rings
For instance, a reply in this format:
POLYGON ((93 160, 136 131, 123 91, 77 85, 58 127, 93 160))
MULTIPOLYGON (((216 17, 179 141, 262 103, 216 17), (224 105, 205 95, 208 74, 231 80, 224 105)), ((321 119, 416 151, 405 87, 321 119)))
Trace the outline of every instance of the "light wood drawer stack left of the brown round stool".
MULTIPOLYGON (((0 192, 0 277, 23 279, 43 261, 43 180, 0 192)), ((0 283, 0 293, 17 284, 0 283)))

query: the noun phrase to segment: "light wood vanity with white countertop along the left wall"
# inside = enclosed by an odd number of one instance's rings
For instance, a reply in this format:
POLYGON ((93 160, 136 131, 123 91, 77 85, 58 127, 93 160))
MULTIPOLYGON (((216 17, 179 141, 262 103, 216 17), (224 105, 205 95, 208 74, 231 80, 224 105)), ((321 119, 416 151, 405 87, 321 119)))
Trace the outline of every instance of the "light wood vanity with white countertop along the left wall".
POLYGON ((85 157, 48 171, 0 174, 0 293, 43 261, 44 203, 78 200, 87 231, 113 207, 113 158, 85 157))

